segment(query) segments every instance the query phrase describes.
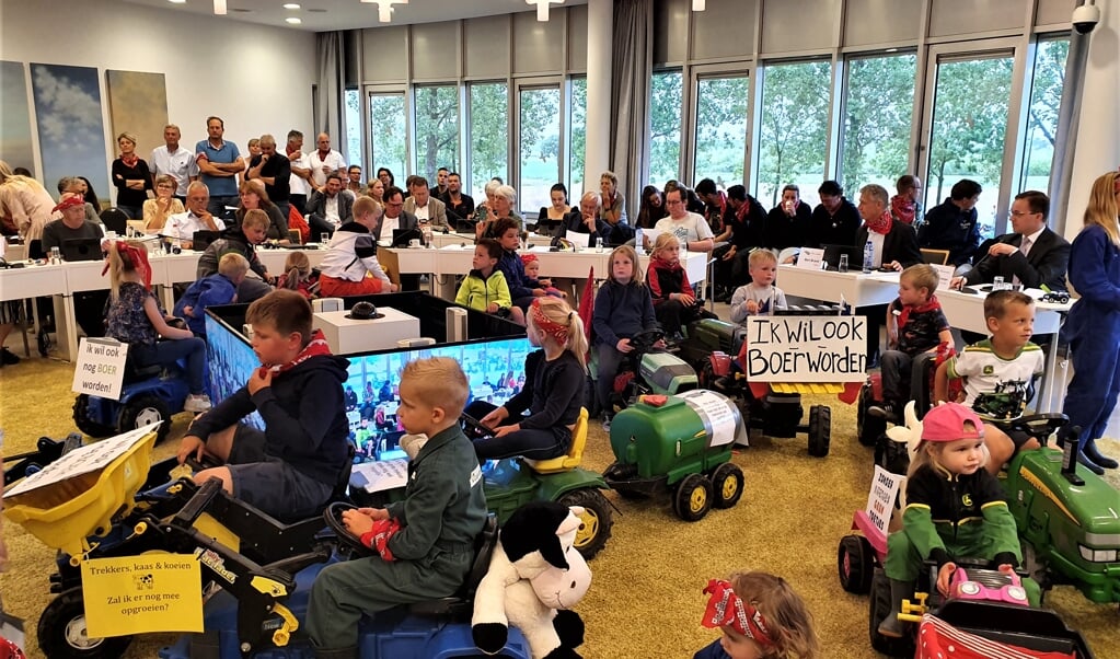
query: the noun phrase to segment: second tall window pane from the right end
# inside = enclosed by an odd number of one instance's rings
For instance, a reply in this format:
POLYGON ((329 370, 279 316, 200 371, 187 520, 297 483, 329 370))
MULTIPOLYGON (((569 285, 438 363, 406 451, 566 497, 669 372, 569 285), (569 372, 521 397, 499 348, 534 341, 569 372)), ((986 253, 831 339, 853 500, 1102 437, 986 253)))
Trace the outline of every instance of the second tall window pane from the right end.
POLYGON ((937 62, 925 207, 940 204, 958 180, 976 180, 983 188, 976 206, 983 238, 996 231, 1012 64, 1010 54, 937 62))

